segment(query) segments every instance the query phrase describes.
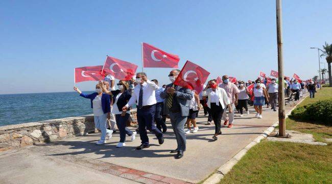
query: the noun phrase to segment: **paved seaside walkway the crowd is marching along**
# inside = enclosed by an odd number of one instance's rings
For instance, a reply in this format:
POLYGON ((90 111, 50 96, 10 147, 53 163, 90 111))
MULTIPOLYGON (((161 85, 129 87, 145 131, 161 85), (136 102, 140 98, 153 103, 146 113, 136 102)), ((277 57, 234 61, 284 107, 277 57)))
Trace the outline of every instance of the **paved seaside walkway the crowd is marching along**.
MULTIPOLYGON (((286 106, 286 113, 292 107, 286 106)), ((184 157, 175 159, 176 148, 170 123, 165 142, 158 145, 149 134, 151 147, 135 150, 139 136, 126 147, 115 148, 118 132, 102 146, 94 145, 100 133, 0 152, 0 179, 4 183, 196 183, 208 177, 260 133, 278 120, 278 113, 264 108, 263 119, 236 114, 233 128, 222 128, 212 141, 214 124, 200 112, 199 131, 187 135, 184 157), (66 182, 65 182, 66 181, 66 182)), ((127 139, 129 140, 129 138, 127 139)))

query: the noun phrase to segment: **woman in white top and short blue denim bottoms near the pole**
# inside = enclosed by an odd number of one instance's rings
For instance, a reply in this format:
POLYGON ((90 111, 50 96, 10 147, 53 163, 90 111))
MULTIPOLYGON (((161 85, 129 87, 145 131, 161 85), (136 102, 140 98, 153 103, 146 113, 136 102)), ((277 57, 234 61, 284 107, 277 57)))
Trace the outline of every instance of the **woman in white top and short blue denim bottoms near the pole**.
POLYGON ((256 118, 263 118, 263 105, 265 104, 264 96, 266 97, 266 101, 269 102, 268 91, 265 88, 265 85, 260 83, 260 79, 256 80, 255 87, 253 89, 254 94, 254 108, 256 110, 256 118))

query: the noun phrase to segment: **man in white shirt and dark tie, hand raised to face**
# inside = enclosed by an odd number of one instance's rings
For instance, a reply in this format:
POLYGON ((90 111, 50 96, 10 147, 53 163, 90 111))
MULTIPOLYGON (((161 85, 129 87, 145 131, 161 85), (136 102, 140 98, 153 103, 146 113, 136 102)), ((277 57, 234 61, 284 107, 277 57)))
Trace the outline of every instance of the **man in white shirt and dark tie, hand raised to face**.
POLYGON ((157 103, 155 90, 158 89, 158 86, 148 80, 147 75, 143 72, 136 74, 135 82, 137 85, 134 88, 131 98, 122 110, 127 111, 137 101, 137 122, 141 145, 136 149, 141 150, 150 147, 147 129, 156 135, 160 145, 163 144, 164 140, 161 131, 154 124, 157 103))

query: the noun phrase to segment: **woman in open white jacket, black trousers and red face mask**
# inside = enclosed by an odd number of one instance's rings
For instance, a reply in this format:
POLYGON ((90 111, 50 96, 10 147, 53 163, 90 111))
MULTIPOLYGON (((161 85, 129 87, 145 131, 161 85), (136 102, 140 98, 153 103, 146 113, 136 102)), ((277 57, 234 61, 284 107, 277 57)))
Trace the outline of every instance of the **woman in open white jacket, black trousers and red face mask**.
POLYGON ((222 114, 226 108, 228 107, 229 113, 232 113, 232 108, 230 107, 230 101, 227 97, 225 89, 218 87, 215 79, 209 81, 205 89, 203 90, 203 98, 208 98, 207 106, 210 108, 212 120, 216 125, 215 135, 212 136, 212 139, 218 140, 218 135, 221 134, 221 119, 222 114), (208 88, 210 87, 210 88, 208 88))

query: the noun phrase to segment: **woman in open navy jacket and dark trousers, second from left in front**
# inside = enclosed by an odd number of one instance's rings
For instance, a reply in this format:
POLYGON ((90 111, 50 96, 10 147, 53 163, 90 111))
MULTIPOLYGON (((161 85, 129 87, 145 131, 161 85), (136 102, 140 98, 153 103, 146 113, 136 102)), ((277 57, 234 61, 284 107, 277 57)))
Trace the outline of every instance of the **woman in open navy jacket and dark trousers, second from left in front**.
MULTIPOLYGON (((102 84, 99 81, 99 84, 102 84)), ((120 80, 117 84, 117 90, 108 91, 104 85, 101 85, 104 93, 113 95, 113 109, 112 113, 115 114, 117 128, 120 130, 120 142, 116 145, 117 148, 126 146, 126 134, 131 136, 131 141, 135 140, 136 132, 127 128, 127 121, 130 117, 130 110, 123 111, 122 107, 127 104, 131 94, 129 91, 129 84, 127 81, 120 80)))

